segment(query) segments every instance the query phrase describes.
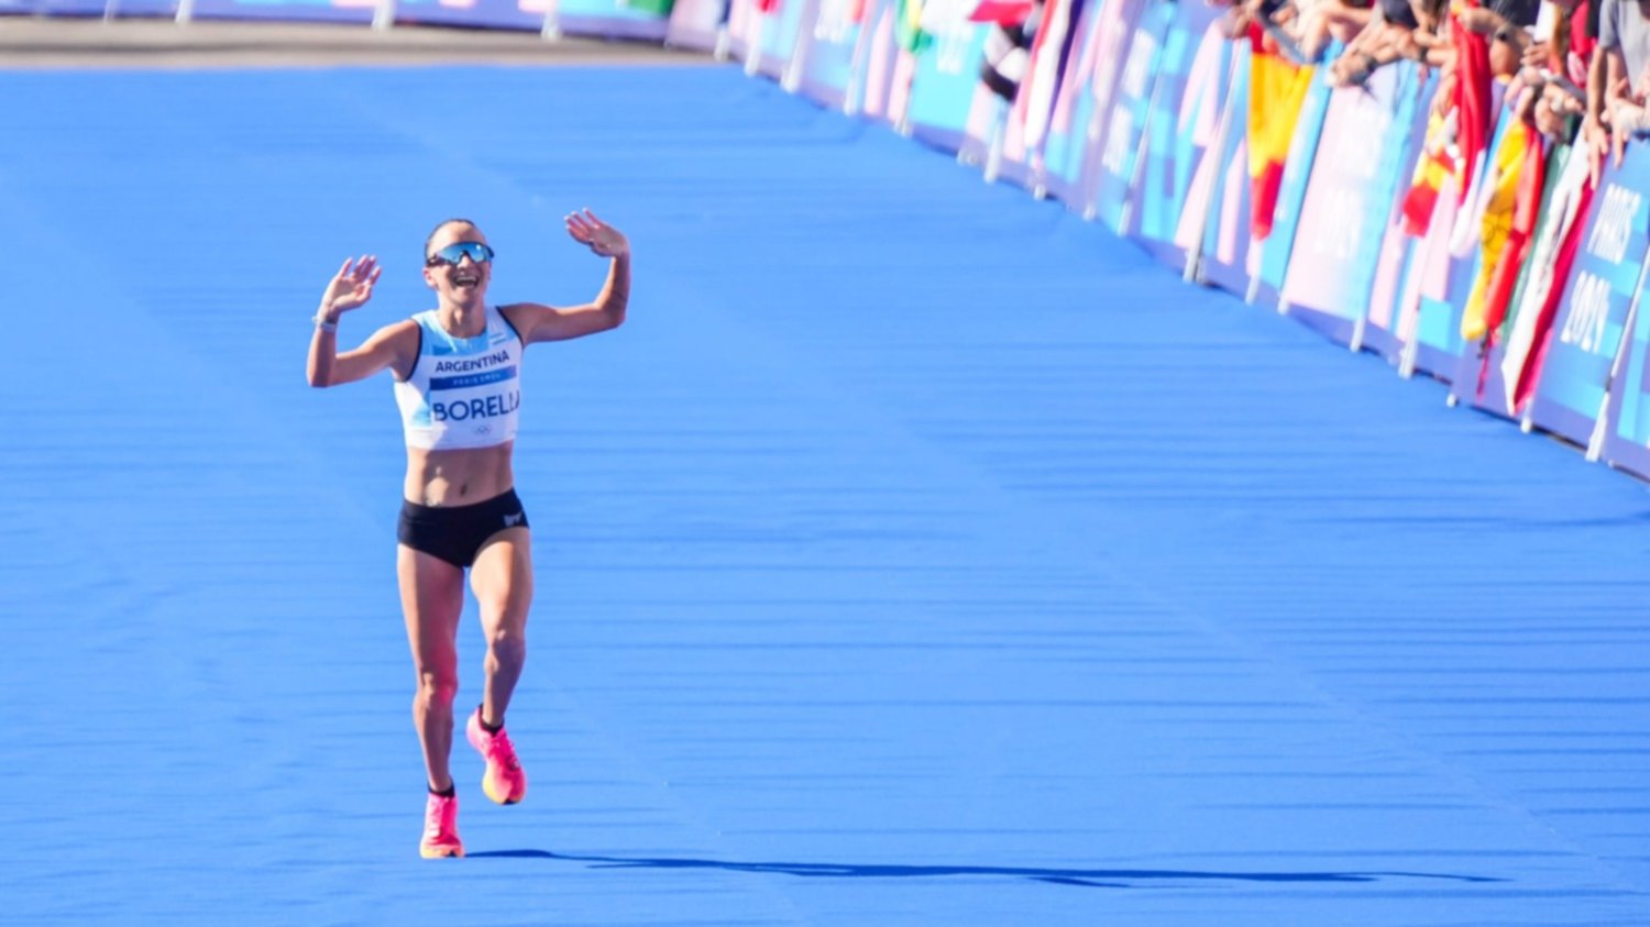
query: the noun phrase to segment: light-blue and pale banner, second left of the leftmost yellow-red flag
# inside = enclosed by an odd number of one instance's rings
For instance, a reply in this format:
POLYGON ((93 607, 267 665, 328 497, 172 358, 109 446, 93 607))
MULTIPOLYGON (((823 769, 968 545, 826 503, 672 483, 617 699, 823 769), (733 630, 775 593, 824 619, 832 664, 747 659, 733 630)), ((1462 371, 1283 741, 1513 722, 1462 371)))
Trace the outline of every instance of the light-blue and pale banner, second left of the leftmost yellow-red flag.
POLYGON ((1203 238, 1218 165, 1206 153, 1219 135, 1231 73, 1226 12, 1175 3, 1147 119, 1134 238, 1158 261, 1181 269, 1203 238))

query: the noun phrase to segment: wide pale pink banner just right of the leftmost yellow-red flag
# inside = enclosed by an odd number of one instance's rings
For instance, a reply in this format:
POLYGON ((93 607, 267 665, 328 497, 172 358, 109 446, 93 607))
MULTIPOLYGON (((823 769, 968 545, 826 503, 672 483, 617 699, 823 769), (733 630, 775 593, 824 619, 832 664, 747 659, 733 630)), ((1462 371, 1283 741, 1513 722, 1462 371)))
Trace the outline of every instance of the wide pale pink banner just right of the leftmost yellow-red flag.
POLYGON ((1330 94, 1279 308, 1336 343, 1350 345, 1370 310, 1419 91, 1404 61, 1330 94))

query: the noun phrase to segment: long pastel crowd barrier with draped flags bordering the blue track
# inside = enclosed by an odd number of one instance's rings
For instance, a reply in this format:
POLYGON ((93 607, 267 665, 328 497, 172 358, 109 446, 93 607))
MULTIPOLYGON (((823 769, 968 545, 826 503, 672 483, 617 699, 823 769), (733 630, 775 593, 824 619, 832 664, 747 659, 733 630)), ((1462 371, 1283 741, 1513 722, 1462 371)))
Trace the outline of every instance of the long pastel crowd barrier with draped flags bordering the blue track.
MULTIPOLYGON (((1650 477, 1650 147, 1586 157, 1414 63, 1332 87, 1219 8, 1046 0, 0 0, 0 13, 442 23, 744 61, 1053 196, 1188 280, 1650 477), (1016 45, 1018 38, 1018 45, 1016 45), (1018 59, 1010 66, 1008 61, 1018 59), (1010 81, 1005 92, 1005 76, 1010 81), (1460 92, 1452 87, 1452 92, 1460 92), (1454 120, 1439 112, 1454 111, 1454 120), (1447 144, 1445 144, 1447 142, 1447 144), (1473 153, 1477 152, 1477 157, 1473 153)), ((1468 84, 1462 81, 1459 84, 1468 84)), ((1145 310, 1142 307, 1142 310, 1145 310)))

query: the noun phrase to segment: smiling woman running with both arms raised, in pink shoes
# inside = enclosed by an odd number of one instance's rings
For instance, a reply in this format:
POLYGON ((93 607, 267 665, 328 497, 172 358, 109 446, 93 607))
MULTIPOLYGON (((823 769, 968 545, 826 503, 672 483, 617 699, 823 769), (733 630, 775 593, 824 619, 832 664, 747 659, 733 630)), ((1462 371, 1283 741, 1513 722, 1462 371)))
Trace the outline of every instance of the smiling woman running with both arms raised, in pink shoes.
POLYGON ((609 259, 607 282, 586 305, 488 305, 493 249, 475 223, 449 219, 424 242, 424 282, 436 290, 436 308, 386 325, 361 346, 338 353, 340 317, 371 299, 381 271, 376 257, 363 256, 343 262, 315 313, 310 386, 353 383, 388 369, 401 407, 408 472, 396 576, 417 671, 412 724, 429 777, 419 843, 424 858, 464 856, 447 757, 467 569, 480 605, 487 661, 482 703, 469 714, 465 736, 487 760, 482 790, 488 798, 513 805, 526 795, 526 774, 505 734, 505 709, 526 658, 533 599, 528 521, 510 467, 521 411, 521 353, 533 341, 617 328, 630 300, 625 236, 589 209, 566 223, 574 241, 609 259))

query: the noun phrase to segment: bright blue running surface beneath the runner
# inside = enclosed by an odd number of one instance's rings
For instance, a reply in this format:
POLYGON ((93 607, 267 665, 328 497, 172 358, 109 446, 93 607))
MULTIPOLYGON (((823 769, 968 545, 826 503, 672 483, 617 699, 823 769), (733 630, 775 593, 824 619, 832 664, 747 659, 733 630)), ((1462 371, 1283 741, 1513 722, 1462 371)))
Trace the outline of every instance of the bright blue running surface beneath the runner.
MULTIPOLYGON (((0 920, 1650 924, 1650 496, 736 68, 0 71, 0 920), (422 861, 388 374, 528 355, 502 808, 422 861)), ((480 632, 460 650, 474 704, 480 632)))

